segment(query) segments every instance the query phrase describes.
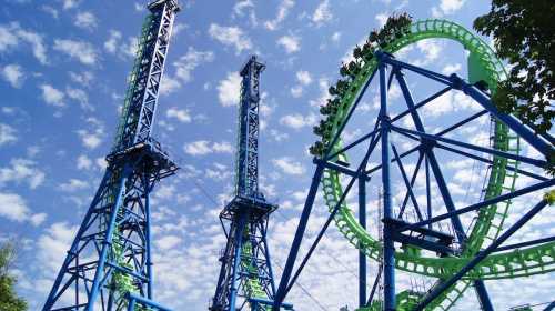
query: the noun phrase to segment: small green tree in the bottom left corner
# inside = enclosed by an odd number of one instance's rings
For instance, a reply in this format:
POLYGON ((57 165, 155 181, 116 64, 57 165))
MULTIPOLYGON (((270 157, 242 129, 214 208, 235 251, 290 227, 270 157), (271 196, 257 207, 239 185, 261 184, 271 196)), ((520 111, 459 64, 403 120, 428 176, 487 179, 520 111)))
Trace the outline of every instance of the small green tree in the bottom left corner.
POLYGON ((9 273, 14 259, 16 248, 12 242, 0 245, 0 311, 27 310, 27 302, 13 290, 16 278, 9 273))

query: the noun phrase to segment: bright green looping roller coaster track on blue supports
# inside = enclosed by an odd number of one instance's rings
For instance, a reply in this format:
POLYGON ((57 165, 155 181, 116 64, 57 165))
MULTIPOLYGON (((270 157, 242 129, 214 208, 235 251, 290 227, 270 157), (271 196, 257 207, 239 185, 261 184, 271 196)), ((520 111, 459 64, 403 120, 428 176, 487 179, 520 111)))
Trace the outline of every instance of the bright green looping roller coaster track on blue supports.
MULTIPOLYGON (((482 73, 481 80, 484 80, 491 92, 495 92, 498 81, 502 81, 506 73, 503 63, 495 57, 495 52, 478 37, 471 33, 462 26, 447 20, 422 20, 413 22, 402 36, 396 36, 387 42, 385 52, 395 53, 402 48, 416 41, 430 38, 444 38, 460 42, 471 53, 471 62, 478 66, 482 73)), ((347 91, 341 97, 337 111, 330 116, 329 123, 331 130, 322 136, 323 144, 327 146, 345 122, 347 112, 353 104, 361 88, 365 84, 371 74, 376 70, 377 61, 370 54, 363 56, 363 64, 359 73, 349 82, 347 91)), ((472 79, 472 77, 471 77, 472 79)), ((516 134, 501 121, 493 121, 493 148, 506 152, 518 154, 521 143, 516 134)), ((332 147, 332 150, 342 149, 341 140, 332 147)), ((344 153, 337 156, 342 161, 347 161, 344 153)), ((518 167, 518 162, 507 160, 501 157, 493 158, 491 173, 485 188, 484 200, 497 197, 502 193, 513 192, 517 174, 508 171, 506 168, 518 167)), ((325 170, 322 180, 324 201, 330 211, 336 205, 342 197, 343 188, 340 183, 340 174, 336 171, 325 170)), ((474 225, 468 240, 464 245, 460 257, 432 258, 423 257, 418 249, 405 248, 395 253, 395 264, 398 270, 417 273, 422 275, 442 279, 455 274, 468 260, 487 245, 488 241, 495 240, 502 231, 503 224, 508 215, 511 201, 503 201, 480 210, 475 218, 474 225)), ((380 260, 382 244, 379 240, 370 235, 357 222, 353 212, 343 203, 334 219, 339 230, 343 235, 360 249, 369 258, 380 260)), ((478 267, 458 281, 450 290, 445 291, 440 298, 434 300, 426 310, 447 310, 463 295, 463 292, 471 285, 472 280, 494 280, 508 279, 546 273, 555 270, 555 242, 531 247, 526 249, 516 249, 509 252, 496 253, 487 257, 478 267)), ((404 291, 397 294, 398 309, 410 310, 423 297, 422 293, 404 291)), ((381 310, 380 302, 375 302, 369 308, 360 310, 381 310)))

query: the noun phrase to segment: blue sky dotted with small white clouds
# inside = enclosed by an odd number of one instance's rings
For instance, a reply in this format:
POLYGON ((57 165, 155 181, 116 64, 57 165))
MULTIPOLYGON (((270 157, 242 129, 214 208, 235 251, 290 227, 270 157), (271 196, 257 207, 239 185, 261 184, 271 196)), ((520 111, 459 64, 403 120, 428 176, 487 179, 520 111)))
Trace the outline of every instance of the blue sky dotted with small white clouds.
MULTIPOLYGON (((232 190, 236 70, 246 58, 256 53, 266 63, 261 82, 260 169, 262 190, 281 205, 272 218, 270 237, 275 265, 281 265, 311 180, 313 167, 306 149, 316 139, 312 127, 320 120, 319 104, 337 79, 341 61, 392 12, 407 11, 415 19, 444 17, 471 28, 473 19, 488 10, 488 1, 182 2, 154 129, 154 137, 182 167, 153 193, 155 295, 175 310, 204 310, 218 278, 218 253, 224 247, 218 213, 232 190)), ((29 299, 31 310, 43 302, 103 173, 103 157, 111 147, 125 77, 147 13, 144 4, 2 1, 0 239, 20 241, 18 292, 29 299)), ((400 58, 466 76, 465 54, 452 42, 423 41, 400 58)), ((425 82, 410 82, 421 90, 433 89, 425 82)), ((375 96, 375 90, 370 91, 363 101, 359 119, 347 129, 351 137, 373 124, 375 96)), ((448 96, 427 111, 430 127, 472 111, 463 96, 448 96)), ((487 127, 483 120, 460 136, 480 140, 487 137, 487 127)), ((457 198, 477 198, 475 184, 482 181, 472 174, 480 167, 447 156, 443 159, 453 187, 460 189, 457 198), (467 189, 475 191, 468 195, 467 189)), ((325 220, 321 199, 317 202, 309 237, 325 220)), ((370 217, 375 220, 374 214, 370 217)), ((554 219, 554 213, 545 217, 524 233, 553 234, 546 220, 554 219)), ((312 298, 294 288, 290 300, 299 310, 317 309, 312 299, 326 310, 355 307, 356 255, 333 228, 300 280, 312 298)), ((274 271, 281 274, 279 267, 274 271)), ((408 280, 403 277, 401 288, 408 280)), ((545 288, 555 288, 555 280, 539 275, 487 284, 495 305, 506 308, 543 302, 549 295, 545 288), (538 282, 543 289, 532 290, 538 282), (522 294, 513 297, 504 290, 507 287, 522 287, 522 294)), ((468 294, 460 310, 475 303, 468 294)))

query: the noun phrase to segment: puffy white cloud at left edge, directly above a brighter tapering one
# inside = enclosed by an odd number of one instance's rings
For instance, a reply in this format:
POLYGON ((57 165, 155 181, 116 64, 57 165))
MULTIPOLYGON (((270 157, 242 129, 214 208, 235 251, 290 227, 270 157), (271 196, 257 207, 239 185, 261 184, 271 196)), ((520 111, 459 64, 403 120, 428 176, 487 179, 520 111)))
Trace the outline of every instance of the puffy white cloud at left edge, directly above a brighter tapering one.
POLYGON ((9 167, 0 168, 0 187, 3 187, 8 182, 26 182, 30 189, 36 189, 43 181, 44 173, 31 160, 12 159, 9 167))

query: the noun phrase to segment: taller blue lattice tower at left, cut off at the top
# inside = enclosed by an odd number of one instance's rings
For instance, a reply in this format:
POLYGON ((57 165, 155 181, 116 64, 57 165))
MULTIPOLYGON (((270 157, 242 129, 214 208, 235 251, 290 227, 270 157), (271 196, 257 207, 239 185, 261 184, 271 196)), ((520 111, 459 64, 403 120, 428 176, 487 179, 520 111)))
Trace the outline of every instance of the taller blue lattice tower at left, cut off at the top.
POLYGON ((178 170, 151 138, 176 0, 148 6, 108 168, 42 308, 169 310, 152 301, 149 194, 178 170))

